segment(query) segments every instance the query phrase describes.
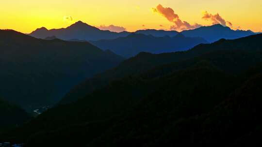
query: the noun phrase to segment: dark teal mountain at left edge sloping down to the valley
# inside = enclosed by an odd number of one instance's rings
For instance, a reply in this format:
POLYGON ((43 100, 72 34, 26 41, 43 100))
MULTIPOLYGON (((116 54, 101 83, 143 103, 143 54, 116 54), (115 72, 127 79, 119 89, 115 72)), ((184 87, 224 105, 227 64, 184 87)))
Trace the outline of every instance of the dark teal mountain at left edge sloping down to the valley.
POLYGON ((0 93, 32 111, 56 103, 85 78, 122 60, 87 42, 42 40, 0 30, 0 93))

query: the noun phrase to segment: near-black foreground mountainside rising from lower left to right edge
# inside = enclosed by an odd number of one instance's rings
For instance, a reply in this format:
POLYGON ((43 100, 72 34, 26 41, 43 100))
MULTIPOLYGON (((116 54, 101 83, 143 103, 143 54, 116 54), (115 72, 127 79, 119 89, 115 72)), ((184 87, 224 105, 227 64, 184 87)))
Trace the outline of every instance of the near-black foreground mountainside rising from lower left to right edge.
POLYGON ((261 41, 258 34, 182 52, 142 52, 77 86, 74 103, 67 99, 0 134, 0 141, 27 147, 261 145, 261 41))

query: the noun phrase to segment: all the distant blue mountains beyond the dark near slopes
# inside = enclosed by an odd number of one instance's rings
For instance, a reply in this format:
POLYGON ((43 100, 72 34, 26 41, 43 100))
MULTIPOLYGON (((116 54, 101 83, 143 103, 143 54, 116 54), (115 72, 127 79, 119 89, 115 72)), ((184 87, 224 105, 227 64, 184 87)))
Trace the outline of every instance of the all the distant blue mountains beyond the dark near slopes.
POLYGON ((188 50, 197 44, 213 43, 219 39, 237 39, 256 34, 250 30, 232 30, 220 24, 192 30, 167 31, 145 29, 135 32, 100 30, 82 21, 62 29, 36 29, 29 35, 42 39, 90 42, 103 50, 130 58, 140 52, 164 53, 188 50))

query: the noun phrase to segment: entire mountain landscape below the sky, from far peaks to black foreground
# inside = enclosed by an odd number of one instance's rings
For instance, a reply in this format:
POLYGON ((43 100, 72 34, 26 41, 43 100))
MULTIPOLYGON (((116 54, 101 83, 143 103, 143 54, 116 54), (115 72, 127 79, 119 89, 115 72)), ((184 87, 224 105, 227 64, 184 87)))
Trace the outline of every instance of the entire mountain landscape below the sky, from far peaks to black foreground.
POLYGON ((222 25, 0 30, 0 146, 261 146, 261 42, 222 25))

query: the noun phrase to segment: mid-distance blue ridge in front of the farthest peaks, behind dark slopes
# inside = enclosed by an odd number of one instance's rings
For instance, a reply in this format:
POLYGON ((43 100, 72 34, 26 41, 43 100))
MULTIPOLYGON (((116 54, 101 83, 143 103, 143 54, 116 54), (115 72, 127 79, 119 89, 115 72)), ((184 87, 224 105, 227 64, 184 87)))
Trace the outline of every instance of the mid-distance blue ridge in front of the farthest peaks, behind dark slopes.
POLYGON ((184 37, 178 34, 174 37, 154 37, 152 35, 132 33, 127 37, 120 37, 114 40, 99 40, 90 42, 99 48, 109 49, 115 54, 130 58, 140 52, 164 53, 188 50, 197 44, 207 43, 199 37, 184 37))

